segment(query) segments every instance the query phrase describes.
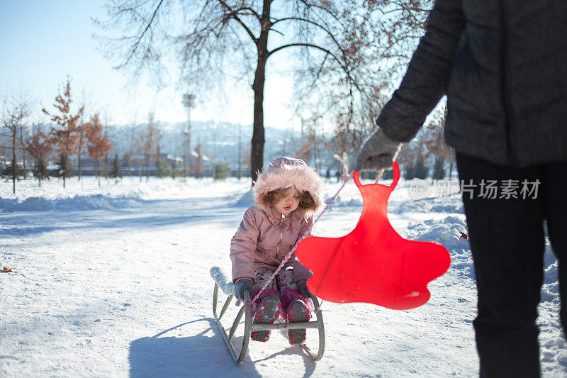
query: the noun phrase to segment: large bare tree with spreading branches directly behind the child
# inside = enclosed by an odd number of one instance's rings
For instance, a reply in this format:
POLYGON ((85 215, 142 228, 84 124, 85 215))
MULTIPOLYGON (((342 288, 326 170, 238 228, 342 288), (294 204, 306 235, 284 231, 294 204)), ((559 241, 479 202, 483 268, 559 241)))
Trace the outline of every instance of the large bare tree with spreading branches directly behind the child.
POLYGON ((159 80, 162 56, 173 45, 192 91, 223 78, 248 82, 254 93, 254 181, 264 158, 267 63, 274 56, 287 58, 286 65, 302 74, 305 96, 320 85, 343 87, 351 99, 366 97, 371 89, 366 74, 380 70, 370 49, 379 31, 378 3, 383 1, 113 0, 110 20, 96 23, 125 34, 102 39, 110 55, 118 55, 118 67, 147 69, 159 80))

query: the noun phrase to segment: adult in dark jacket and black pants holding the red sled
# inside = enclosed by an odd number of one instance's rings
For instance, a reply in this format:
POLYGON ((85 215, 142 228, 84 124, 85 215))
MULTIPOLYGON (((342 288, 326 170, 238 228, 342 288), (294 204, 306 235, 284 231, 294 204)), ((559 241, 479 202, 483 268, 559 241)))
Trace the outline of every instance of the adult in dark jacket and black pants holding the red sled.
POLYGON ((539 376, 544 225, 567 326, 567 1, 437 0, 355 170, 391 167, 447 94, 478 287, 481 377, 539 376), (488 188, 491 188, 488 191, 488 188))

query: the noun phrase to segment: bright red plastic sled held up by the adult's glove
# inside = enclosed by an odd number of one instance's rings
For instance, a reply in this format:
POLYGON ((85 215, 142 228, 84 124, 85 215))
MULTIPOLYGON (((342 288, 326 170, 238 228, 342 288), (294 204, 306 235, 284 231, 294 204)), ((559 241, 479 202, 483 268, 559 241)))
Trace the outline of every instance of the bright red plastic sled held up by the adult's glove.
POLYGON ((319 298, 415 308, 430 299, 427 284, 449 269, 451 256, 442 245, 404 239, 388 221, 388 197, 400 179, 398 163, 393 169, 390 186, 362 185, 354 172, 364 207, 348 235, 310 236, 298 244, 296 256, 313 272, 308 289, 319 298))

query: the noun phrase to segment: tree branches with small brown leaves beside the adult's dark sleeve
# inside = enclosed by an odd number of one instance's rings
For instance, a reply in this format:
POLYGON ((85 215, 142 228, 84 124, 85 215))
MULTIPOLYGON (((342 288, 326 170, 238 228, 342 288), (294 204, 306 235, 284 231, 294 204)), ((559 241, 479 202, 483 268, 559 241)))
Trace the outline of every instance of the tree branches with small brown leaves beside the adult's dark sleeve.
MULTIPOLYGON (((363 67, 374 67, 363 73, 367 78, 366 96, 356 96, 348 87, 331 89, 316 97, 318 106, 326 103, 322 110, 313 109, 315 116, 329 116, 335 123, 334 148, 339 152, 352 153, 359 150, 366 137, 376 130, 374 120, 381 111, 391 91, 410 61, 419 38, 425 31, 427 14, 433 0, 376 0, 371 1, 367 17, 374 22, 371 40, 365 55, 361 55, 363 67), (376 67, 378 66, 378 67, 376 67), (325 101, 320 101, 325 99, 325 101)), ((366 35, 366 34, 365 34, 366 35)), ((298 80, 301 85, 301 77, 298 80)), ((305 107, 307 101, 296 96, 296 106, 305 107)))

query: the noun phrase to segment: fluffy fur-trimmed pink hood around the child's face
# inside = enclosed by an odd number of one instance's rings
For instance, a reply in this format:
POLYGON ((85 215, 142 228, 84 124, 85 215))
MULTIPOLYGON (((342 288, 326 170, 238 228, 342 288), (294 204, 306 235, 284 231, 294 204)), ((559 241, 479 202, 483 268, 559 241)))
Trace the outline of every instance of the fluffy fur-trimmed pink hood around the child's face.
POLYGON ((275 189, 296 187, 298 191, 307 191, 313 197, 313 206, 303 210, 303 216, 309 218, 322 209, 325 201, 323 199, 323 181, 319 174, 309 167, 301 159, 281 156, 270 163, 264 172, 258 175, 254 182, 252 192, 254 201, 260 209, 271 214, 270 204, 266 202, 266 194, 275 189))

